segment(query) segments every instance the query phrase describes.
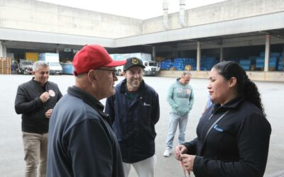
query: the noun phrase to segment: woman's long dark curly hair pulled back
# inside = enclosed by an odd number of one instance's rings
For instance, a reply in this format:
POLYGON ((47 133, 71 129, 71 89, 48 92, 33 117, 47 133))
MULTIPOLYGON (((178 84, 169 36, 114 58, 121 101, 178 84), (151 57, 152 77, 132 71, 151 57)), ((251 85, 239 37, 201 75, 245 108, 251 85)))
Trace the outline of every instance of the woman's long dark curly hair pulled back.
POLYGON ((213 68, 217 69, 217 72, 224 76, 226 80, 235 77, 238 95, 244 95, 248 101, 256 105, 265 115, 263 104, 261 103, 261 94, 256 84, 249 79, 244 69, 238 63, 231 61, 219 62, 213 68))

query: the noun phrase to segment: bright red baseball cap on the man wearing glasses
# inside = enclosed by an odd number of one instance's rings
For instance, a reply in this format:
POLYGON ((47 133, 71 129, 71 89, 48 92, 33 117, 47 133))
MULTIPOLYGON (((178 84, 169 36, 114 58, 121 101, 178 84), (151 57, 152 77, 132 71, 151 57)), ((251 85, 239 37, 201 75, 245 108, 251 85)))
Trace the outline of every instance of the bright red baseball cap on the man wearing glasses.
POLYGON ((72 62, 75 68, 75 75, 87 73, 91 69, 117 67, 125 63, 126 60, 114 61, 101 45, 85 45, 77 52, 72 62))

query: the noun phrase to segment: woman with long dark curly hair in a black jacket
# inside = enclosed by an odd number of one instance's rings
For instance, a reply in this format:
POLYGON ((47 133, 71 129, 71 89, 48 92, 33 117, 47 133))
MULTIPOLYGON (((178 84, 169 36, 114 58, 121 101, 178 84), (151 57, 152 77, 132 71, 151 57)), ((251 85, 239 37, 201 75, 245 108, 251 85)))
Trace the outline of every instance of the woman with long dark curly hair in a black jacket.
POLYGON ((214 102, 197 125, 197 138, 178 145, 175 157, 195 176, 263 176, 271 125, 256 84, 236 62, 209 73, 214 102))

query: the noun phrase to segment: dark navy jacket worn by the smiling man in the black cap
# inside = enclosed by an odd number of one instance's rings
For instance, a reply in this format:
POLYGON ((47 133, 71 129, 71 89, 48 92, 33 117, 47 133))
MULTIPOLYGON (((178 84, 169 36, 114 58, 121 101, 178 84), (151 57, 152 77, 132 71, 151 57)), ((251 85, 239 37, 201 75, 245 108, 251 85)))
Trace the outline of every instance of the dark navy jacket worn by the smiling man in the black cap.
POLYGON ((113 119, 122 159, 132 164, 155 154, 155 124, 160 118, 158 93, 144 81, 132 100, 126 79, 115 87, 116 94, 107 98, 105 112, 113 119))

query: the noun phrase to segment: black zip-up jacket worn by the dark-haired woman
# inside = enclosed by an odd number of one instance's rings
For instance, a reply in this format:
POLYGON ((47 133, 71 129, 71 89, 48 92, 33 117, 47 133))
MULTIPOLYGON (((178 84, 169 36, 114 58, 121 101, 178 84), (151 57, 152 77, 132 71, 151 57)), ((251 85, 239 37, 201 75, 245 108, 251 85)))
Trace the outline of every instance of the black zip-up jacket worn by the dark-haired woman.
POLYGON ((196 155, 197 177, 258 177, 266 169, 270 135, 271 125, 261 110, 245 98, 236 98, 212 105, 200 118, 197 138, 184 145, 187 154, 196 155))

